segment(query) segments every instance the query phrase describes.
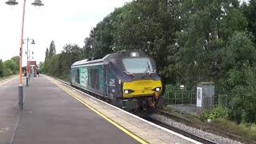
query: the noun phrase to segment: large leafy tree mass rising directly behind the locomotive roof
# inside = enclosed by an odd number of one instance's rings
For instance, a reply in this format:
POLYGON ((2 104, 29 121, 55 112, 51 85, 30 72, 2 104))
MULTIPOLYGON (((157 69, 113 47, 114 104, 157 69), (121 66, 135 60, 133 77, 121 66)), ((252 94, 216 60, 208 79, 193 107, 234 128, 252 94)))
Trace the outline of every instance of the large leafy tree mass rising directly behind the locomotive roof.
POLYGON ((174 81, 169 69, 174 61, 174 43, 179 30, 181 3, 174 1, 134 1, 115 9, 90 31, 85 47, 94 57, 118 50, 143 50, 158 63, 162 79, 174 81), (167 59, 169 59, 168 64, 167 59))

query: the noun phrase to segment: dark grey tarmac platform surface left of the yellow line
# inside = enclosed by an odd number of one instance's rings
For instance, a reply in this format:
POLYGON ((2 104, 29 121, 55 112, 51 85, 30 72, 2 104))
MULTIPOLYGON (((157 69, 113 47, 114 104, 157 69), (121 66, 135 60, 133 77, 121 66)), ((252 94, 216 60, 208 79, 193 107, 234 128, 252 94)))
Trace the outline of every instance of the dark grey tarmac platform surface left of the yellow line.
POLYGON ((46 78, 32 78, 24 94, 19 114, 18 78, 0 85, 1 144, 138 143, 46 78))

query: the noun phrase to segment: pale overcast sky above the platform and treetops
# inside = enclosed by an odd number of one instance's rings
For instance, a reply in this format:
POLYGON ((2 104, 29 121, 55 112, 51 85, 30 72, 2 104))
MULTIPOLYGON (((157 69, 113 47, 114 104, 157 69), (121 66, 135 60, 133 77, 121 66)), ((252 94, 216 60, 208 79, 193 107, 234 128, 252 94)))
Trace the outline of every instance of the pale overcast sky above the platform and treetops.
MULTIPOLYGON (((24 38, 34 38, 35 45, 29 44, 34 51, 34 60, 44 61, 46 47, 54 40, 57 53, 67 43, 83 46, 84 38, 91 28, 115 7, 123 6, 131 0, 42 0, 45 6, 34 7, 26 0, 24 38)), ((18 5, 8 6, 6 0, 0 1, 0 59, 18 55, 22 28, 23 0, 18 5)), ((26 42, 26 41, 25 41, 26 42)), ((31 41, 30 41, 31 42, 31 41)), ((23 57, 26 57, 23 45, 23 57)), ((26 58, 23 58, 26 66, 26 58)))

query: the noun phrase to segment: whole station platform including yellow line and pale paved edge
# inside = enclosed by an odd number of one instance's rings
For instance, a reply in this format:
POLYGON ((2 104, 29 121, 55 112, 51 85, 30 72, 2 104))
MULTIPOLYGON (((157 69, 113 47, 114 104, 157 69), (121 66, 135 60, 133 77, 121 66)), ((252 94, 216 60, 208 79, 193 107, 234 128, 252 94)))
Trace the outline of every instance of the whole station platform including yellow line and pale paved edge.
POLYGON ((198 143, 54 78, 31 78, 18 109, 18 77, 0 82, 0 143, 198 143))

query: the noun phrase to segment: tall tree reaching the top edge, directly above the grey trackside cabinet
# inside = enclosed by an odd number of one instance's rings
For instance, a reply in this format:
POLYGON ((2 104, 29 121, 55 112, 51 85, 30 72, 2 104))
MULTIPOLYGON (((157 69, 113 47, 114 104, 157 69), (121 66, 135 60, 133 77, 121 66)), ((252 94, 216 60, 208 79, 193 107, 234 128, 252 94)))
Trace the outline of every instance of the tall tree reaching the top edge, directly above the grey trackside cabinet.
POLYGON ((188 87, 197 82, 218 82, 222 71, 222 49, 235 31, 246 27, 237 0, 184 1, 182 28, 178 31, 176 69, 179 82, 188 87))

